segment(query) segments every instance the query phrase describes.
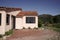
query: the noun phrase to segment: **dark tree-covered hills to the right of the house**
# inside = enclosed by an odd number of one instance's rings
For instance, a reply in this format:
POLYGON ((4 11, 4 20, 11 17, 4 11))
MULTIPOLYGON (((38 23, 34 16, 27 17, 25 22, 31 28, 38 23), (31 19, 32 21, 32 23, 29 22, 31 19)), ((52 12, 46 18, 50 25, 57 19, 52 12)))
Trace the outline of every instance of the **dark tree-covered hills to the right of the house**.
POLYGON ((39 21, 42 23, 60 23, 60 15, 49 15, 49 14, 43 14, 38 16, 39 21))

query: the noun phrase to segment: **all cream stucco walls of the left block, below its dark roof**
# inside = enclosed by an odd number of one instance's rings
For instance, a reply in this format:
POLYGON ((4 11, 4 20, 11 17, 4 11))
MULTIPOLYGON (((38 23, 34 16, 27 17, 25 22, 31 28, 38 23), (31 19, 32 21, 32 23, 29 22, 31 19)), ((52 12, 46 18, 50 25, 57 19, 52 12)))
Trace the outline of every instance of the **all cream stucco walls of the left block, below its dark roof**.
POLYGON ((1 18, 1 25, 0 25, 0 34, 5 34, 6 31, 9 31, 10 29, 12 29, 13 27, 13 23, 12 23, 12 18, 11 15, 16 16, 19 12, 21 11, 12 11, 12 12, 5 12, 5 11, 0 11, 0 13, 2 14, 2 18, 1 18), (6 14, 10 15, 10 21, 9 21, 9 25, 6 25, 6 14))

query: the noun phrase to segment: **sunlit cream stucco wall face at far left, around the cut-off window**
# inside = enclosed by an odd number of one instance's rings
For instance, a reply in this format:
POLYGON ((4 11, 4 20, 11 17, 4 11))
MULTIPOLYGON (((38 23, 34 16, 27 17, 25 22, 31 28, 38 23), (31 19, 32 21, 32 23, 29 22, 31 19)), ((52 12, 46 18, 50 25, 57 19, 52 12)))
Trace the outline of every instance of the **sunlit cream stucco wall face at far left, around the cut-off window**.
POLYGON ((1 25, 0 25, 0 34, 5 34, 6 12, 5 11, 0 11, 0 13, 2 14, 1 25))

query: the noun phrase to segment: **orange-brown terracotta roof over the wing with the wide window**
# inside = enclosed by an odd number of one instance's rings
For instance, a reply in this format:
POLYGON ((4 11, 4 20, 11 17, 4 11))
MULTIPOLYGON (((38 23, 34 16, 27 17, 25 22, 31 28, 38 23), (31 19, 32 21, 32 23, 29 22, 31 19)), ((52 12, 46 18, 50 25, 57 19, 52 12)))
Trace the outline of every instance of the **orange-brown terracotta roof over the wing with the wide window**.
POLYGON ((23 16, 38 16, 36 11, 22 11, 17 14, 16 17, 23 17, 23 16))

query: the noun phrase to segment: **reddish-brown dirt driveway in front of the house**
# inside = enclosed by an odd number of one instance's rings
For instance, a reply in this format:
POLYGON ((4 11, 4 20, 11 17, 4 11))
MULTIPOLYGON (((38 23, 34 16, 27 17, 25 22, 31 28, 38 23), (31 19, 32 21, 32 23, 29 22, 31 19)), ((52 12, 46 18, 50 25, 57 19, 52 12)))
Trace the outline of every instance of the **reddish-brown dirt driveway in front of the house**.
POLYGON ((51 30, 14 30, 7 40, 47 40, 55 35, 51 30))

